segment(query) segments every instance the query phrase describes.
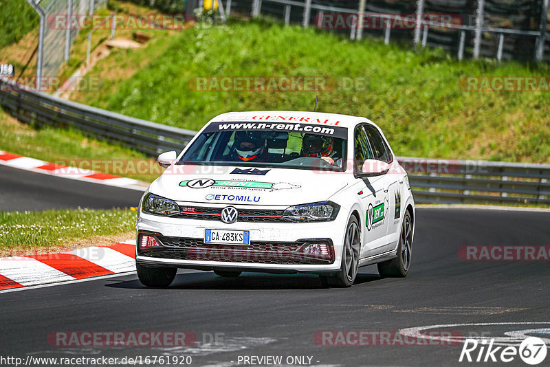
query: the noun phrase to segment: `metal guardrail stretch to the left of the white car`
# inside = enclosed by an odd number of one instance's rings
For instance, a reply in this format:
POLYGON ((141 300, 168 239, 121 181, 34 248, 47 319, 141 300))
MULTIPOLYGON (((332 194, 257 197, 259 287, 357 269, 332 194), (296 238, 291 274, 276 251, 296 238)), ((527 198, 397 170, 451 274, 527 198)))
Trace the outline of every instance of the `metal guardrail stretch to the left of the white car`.
POLYGON ((153 156, 181 150, 196 133, 63 100, 6 78, 0 78, 0 104, 23 122, 76 129, 153 156))

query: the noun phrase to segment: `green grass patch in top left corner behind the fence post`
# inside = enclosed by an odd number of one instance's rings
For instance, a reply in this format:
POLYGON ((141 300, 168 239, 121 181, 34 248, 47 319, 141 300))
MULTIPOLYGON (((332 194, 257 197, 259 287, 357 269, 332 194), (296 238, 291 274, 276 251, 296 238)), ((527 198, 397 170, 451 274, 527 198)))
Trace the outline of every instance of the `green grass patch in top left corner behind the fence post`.
POLYGON ((2 0, 0 11, 0 49, 19 41, 39 25, 39 16, 24 0, 2 0))

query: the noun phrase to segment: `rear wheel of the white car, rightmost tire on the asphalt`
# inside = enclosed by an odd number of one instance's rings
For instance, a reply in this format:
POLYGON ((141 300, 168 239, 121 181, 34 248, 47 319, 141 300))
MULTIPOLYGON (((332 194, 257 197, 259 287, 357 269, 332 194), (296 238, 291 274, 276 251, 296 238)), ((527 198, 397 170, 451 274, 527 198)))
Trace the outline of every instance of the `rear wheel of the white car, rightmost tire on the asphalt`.
POLYGON ((405 278, 410 269, 410 257, 412 254, 412 219, 410 213, 405 212, 401 234, 399 235, 399 246, 397 247, 397 258, 384 263, 378 263, 378 272, 382 278, 405 278))

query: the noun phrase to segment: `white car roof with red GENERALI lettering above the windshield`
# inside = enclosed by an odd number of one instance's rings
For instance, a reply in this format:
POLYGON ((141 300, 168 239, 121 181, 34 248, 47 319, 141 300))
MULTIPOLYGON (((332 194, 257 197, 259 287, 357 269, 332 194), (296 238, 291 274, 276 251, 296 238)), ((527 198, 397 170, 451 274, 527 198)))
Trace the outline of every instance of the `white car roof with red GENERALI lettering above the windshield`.
MULTIPOLYGON (((338 113, 310 112, 310 111, 246 111, 228 112, 217 115, 210 122, 303 122, 313 124, 326 124, 331 126, 352 127, 358 122, 366 121, 366 118, 338 113)), ((368 120, 367 120, 368 121, 368 120)))

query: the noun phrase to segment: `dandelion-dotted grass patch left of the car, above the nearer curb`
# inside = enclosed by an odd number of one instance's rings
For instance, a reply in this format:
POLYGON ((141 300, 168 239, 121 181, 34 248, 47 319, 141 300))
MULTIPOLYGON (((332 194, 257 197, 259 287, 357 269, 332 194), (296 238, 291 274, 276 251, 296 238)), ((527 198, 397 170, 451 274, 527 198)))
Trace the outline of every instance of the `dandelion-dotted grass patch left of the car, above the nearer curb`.
POLYGON ((75 240, 131 234, 135 213, 122 209, 0 212, 0 255, 31 254, 75 240))

